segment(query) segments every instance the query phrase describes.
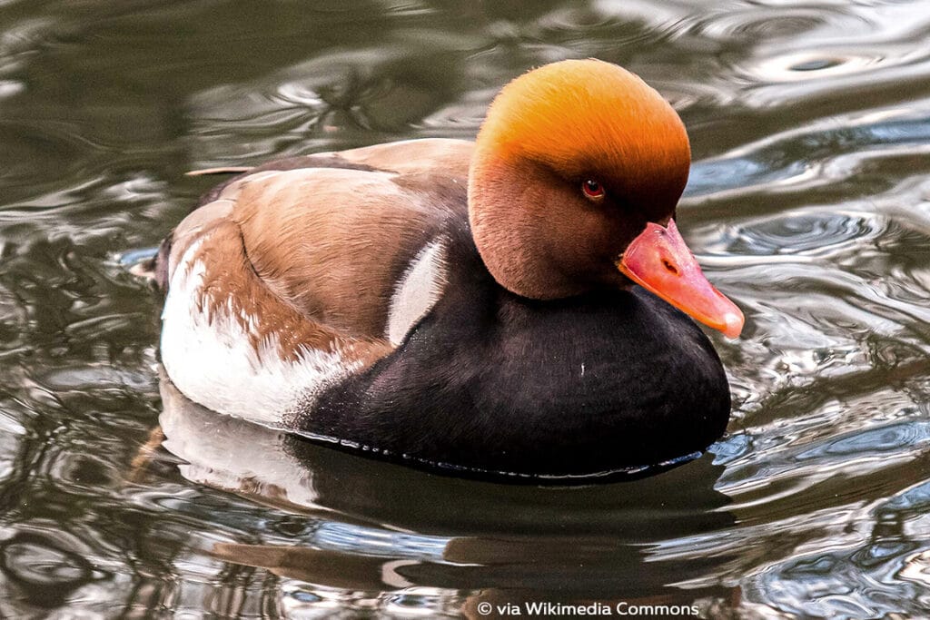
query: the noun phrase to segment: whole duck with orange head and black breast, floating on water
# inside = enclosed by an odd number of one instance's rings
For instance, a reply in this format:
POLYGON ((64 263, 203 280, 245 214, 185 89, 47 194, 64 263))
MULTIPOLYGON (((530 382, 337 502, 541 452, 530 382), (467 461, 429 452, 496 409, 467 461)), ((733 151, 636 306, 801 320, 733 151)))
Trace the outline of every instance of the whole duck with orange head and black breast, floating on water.
POLYGON ((697 323, 744 318, 678 231, 690 163, 654 88, 569 59, 504 86, 474 141, 219 170, 156 258, 162 366, 219 414, 452 475, 699 455, 731 399, 697 323))

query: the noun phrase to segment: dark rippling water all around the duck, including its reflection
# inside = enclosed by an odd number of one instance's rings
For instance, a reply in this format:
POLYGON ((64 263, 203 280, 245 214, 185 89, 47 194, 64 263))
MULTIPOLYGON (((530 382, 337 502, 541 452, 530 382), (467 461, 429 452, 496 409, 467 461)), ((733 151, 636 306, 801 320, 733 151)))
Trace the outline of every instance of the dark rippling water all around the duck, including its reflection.
POLYGON ((927 2, 0 1, 0 616, 930 616, 928 33, 927 2), (746 310, 713 454, 512 487, 160 388, 120 257, 216 180, 185 171, 470 138, 589 56, 681 112, 680 226, 746 310))

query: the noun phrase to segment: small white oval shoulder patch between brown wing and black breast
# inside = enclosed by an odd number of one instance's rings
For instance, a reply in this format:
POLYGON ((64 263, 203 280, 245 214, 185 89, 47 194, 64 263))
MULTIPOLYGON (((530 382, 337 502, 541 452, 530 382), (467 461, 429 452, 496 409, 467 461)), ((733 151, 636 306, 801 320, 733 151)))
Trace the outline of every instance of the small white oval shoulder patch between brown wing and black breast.
POLYGON ((392 345, 403 342, 410 328, 442 297, 447 272, 443 239, 426 244, 410 261, 391 297, 387 336, 392 345))

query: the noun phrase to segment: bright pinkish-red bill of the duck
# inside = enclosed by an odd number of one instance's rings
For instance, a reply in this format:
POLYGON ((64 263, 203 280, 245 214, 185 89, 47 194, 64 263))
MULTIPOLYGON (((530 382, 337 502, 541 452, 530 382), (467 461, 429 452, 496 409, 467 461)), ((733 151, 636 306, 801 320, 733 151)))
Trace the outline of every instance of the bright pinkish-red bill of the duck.
POLYGON ((666 228, 647 224, 617 266, 636 284, 724 336, 735 338, 742 331, 743 313, 708 282, 673 219, 666 228))

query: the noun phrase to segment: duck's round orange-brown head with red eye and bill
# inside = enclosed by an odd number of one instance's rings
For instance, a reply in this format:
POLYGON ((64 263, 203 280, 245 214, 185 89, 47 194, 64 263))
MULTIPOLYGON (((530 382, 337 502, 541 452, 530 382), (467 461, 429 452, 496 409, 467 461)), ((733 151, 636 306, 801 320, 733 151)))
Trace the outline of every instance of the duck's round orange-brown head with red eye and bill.
POLYGON ((690 266, 667 262, 670 252, 653 248, 658 262, 640 260, 635 271, 623 264, 647 224, 671 222, 690 164, 684 124, 639 77, 594 59, 545 65, 504 86, 478 134, 469 175, 475 244, 517 295, 570 297, 633 280, 704 323, 728 324, 731 335, 735 307, 701 314, 685 307, 694 300, 650 284, 672 270, 693 277, 690 266), (729 318, 703 316, 721 313, 729 318))

